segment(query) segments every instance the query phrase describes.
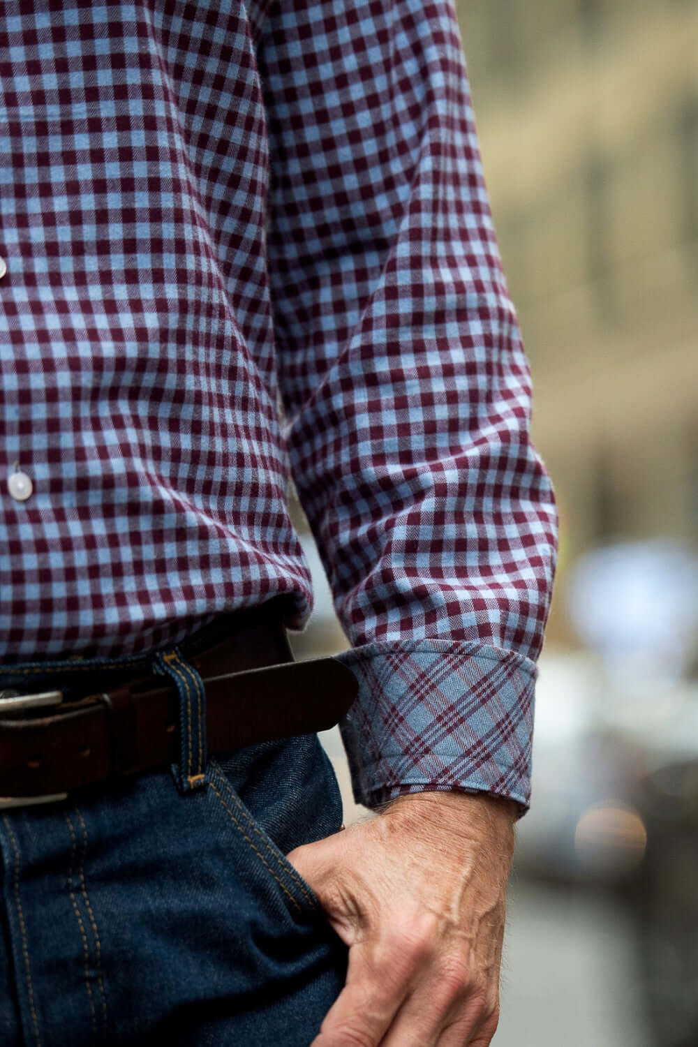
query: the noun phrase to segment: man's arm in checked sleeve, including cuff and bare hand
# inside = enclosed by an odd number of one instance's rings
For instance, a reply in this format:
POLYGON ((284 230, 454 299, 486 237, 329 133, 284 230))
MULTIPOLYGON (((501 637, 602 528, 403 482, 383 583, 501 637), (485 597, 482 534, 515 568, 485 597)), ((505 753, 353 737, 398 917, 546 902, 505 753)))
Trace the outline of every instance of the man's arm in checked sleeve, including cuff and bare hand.
POLYGON ((396 801, 291 855, 350 944, 317 1043, 487 1044, 556 512, 455 15, 276 0, 258 54, 291 464, 353 644, 355 794, 396 801))

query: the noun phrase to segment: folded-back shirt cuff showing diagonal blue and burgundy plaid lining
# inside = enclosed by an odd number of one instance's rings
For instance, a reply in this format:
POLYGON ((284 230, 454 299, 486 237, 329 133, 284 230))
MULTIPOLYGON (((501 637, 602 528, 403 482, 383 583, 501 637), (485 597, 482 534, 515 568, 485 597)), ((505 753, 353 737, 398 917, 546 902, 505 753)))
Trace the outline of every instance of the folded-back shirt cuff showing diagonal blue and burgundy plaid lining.
POLYGON ((359 681, 340 723, 357 803, 444 789, 528 807, 534 662, 440 640, 368 644, 338 658, 359 681))

